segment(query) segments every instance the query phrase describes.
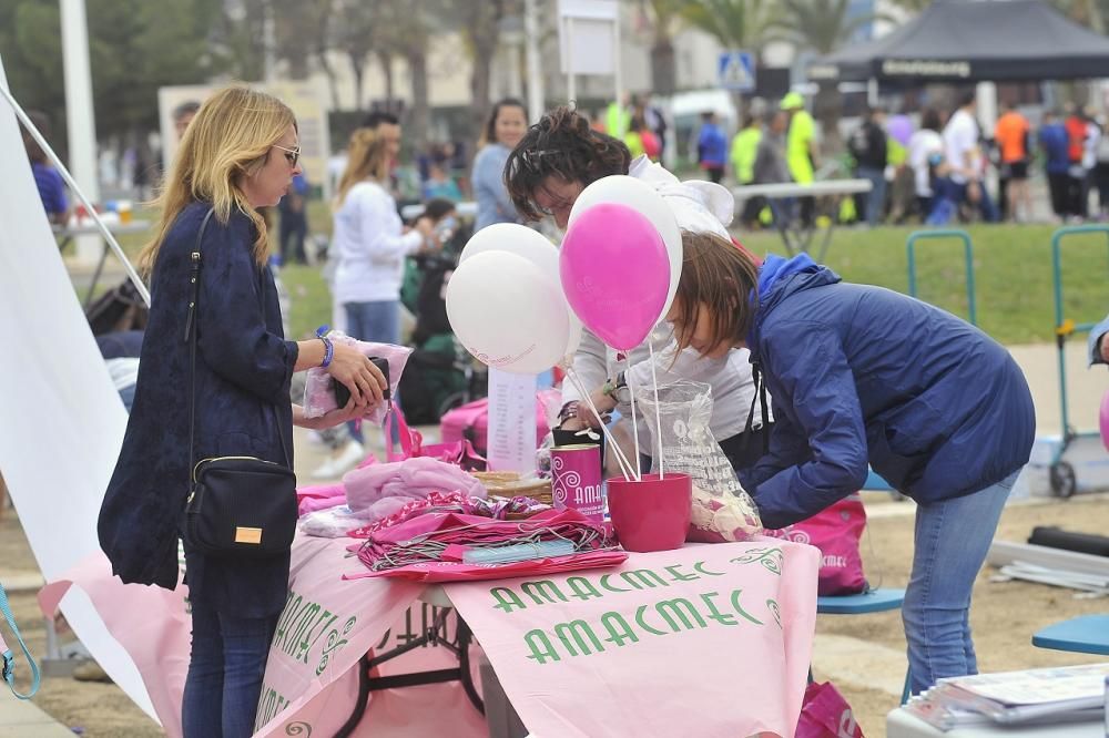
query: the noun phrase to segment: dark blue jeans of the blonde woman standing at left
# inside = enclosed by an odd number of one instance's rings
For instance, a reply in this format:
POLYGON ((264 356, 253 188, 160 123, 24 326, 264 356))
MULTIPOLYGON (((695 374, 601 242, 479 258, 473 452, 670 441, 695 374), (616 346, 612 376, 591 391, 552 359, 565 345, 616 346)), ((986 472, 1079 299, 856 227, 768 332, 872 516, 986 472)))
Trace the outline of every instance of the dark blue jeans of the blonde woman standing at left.
POLYGON ((246 738, 278 615, 231 617, 193 603, 193 647, 181 701, 184 738, 246 738))

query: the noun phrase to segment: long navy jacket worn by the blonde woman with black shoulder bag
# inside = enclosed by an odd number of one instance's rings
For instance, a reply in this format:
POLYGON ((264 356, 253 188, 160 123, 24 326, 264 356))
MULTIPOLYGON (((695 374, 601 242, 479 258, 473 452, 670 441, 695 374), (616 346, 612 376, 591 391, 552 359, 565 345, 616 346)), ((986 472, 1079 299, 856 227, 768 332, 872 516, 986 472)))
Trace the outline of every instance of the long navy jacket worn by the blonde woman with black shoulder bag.
MULTIPOLYGON (((206 203, 182 211, 151 277, 150 322, 139 363, 134 406, 98 532, 112 570, 124 582, 172 588, 189 475, 189 255, 206 203)), ((297 346, 284 340, 273 275, 252 255, 254 226, 233 212, 213 216, 201 245, 196 346, 196 459, 255 455, 284 463, 293 453, 289 378, 297 346)), ((292 457, 289 458, 292 464, 292 457)), ((288 556, 233 563, 186 551, 190 597, 223 612, 261 617, 279 612, 288 556)))

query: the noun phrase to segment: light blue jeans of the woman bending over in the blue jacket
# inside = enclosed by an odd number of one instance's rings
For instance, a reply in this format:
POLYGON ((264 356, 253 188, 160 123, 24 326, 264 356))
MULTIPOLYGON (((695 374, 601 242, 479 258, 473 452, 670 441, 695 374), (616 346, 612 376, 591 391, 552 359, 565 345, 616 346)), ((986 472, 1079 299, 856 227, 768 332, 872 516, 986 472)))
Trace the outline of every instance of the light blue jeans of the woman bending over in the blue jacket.
POLYGON ((916 510, 913 574, 902 605, 913 694, 940 677, 978 673, 970 591, 1017 472, 971 494, 916 510))

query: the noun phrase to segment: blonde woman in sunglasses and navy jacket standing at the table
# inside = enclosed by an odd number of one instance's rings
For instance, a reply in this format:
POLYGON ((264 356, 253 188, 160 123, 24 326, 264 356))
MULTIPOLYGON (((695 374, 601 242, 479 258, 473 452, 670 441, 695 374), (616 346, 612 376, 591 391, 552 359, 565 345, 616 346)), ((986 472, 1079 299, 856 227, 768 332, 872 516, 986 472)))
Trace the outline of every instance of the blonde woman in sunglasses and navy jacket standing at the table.
MULTIPOLYGON (((141 257, 151 284, 134 406, 100 513, 100 545, 124 582, 173 588, 189 490, 190 254, 201 242, 196 322, 196 459, 253 455, 284 463, 293 426, 323 428, 380 402, 385 378, 357 351, 287 341, 257 208, 276 205, 301 172, 292 111, 246 88, 215 93, 181 141, 159 198, 156 236, 141 257), (328 361, 329 359, 329 361, 328 361), (289 402, 294 371, 327 362, 350 388, 347 408, 306 419, 289 402), (284 437, 284 438, 282 438, 284 437)), ((292 464, 292 459, 288 460, 292 464)), ((185 546, 192 652, 186 738, 254 732, 269 642, 288 591, 288 555, 236 561, 185 546)))

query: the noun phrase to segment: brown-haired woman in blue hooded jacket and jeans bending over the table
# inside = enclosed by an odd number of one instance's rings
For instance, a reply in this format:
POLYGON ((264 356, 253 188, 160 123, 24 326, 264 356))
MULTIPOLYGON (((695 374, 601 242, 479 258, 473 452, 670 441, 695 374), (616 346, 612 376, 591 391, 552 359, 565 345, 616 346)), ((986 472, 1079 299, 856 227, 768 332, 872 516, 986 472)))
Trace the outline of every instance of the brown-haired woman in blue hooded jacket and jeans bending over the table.
POLYGON ((902 607, 913 691, 977 673, 970 592, 1036 427, 1020 368, 968 322, 807 255, 755 267, 712 234, 683 242, 668 316, 681 346, 749 348, 774 398, 769 448, 740 474, 763 524, 813 515, 873 467, 918 505, 902 607))

